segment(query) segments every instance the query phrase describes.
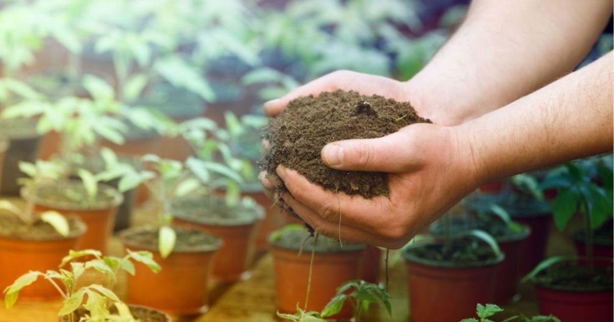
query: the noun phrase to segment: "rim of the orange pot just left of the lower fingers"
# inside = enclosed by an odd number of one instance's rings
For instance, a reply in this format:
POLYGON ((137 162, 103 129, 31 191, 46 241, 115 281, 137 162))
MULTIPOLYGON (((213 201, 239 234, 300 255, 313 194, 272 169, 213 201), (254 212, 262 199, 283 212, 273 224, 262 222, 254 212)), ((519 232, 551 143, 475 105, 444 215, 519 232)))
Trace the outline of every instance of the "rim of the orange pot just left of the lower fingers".
POLYGON ((211 225, 211 226, 227 226, 227 227, 230 226, 232 227, 232 226, 250 226, 252 224, 257 223, 258 221, 261 221, 265 216, 264 209, 262 209, 262 206, 259 205, 255 201, 252 207, 246 207, 243 205, 239 206, 239 207, 242 207, 243 211, 249 210, 253 212, 254 215, 252 215, 251 218, 236 218, 236 219, 209 218, 206 216, 203 216, 200 218, 187 217, 183 215, 181 212, 178 212, 177 206, 174 205, 174 203, 177 201, 189 200, 189 199, 199 199, 200 197, 212 197, 216 200, 222 200, 222 197, 213 196, 213 195, 206 195, 206 196, 195 195, 195 196, 185 196, 185 197, 175 198, 171 201, 171 213, 173 213, 173 217, 179 218, 180 220, 187 221, 189 223, 206 224, 206 225, 211 225))

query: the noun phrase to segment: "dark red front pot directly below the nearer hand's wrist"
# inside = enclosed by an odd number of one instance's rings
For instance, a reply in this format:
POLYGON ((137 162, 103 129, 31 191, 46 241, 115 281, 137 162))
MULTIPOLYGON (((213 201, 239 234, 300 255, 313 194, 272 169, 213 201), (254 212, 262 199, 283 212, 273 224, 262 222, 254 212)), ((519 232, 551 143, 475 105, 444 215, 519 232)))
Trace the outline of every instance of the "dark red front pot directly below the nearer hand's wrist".
MULTIPOLYGON (((414 245, 413 247, 421 247, 414 245)), ((411 248, 407 250, 410 250, 411 248)), ((444 266, 403 253, 410 294, 412 322, 461 321, 475 316, 477 303, 492 303, 494 278, 503 256, 474 266, 444 266), (442 303, 449 303, 442 309, 442 303)))

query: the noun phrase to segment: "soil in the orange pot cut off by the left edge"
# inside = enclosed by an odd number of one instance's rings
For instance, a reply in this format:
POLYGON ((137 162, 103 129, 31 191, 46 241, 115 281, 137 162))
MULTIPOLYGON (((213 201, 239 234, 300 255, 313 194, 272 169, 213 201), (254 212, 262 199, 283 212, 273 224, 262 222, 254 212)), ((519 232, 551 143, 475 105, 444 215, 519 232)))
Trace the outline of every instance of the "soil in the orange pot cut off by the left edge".
MULTIPOLYGON (((69 237, 74 237, 85 231, 85 225, 74 217, 68 218, 71 228, 69 237)), ((66 237, 58 234, 53 227, 44 221, 37 220, 28 225, 15 215, 0 214, 0 236, 22 240, 58 240, 66 237)))

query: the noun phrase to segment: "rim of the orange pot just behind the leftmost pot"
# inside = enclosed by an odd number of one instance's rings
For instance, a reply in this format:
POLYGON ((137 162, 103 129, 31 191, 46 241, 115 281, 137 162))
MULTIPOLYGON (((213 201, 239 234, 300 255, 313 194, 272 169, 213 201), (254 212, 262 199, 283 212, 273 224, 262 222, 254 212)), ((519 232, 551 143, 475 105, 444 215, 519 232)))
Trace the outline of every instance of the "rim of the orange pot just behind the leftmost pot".
MULTIPOLYGON (((79 182, 79 180, 74 180, 74 179, 69 179, 66 181, 68 181, 69 183, 79 182)), ((49 183, 45 183, 41 186, 45 187, 45 186, 51 186, 51 185, 49 183)), ((42 197, 36 196, 36 194, 32 194, 29 189, 29 186, 22 186, 20 189, 20 194, 21 194, 21 197, 23 197, 23 199, 30 200, 34 202, 34 204, 43 205, 45 207, 51 207, 54 209, 64 210, 64 211, 95 211, 95 210, 111 209, 113 207, 117 207, 123 202, 123 194, 120 193, 117 189, 113 188, 112 186, 107 185, 106 183, 98 183, 98 189, 99 190, 104 189, 112 194, 112 199, 110 201, 101 202, 98 207, 81 207, 77 204, 69 204, 68 202, 53 202, 53 201, 50 202, 50 201, 45 200, 42 197)))

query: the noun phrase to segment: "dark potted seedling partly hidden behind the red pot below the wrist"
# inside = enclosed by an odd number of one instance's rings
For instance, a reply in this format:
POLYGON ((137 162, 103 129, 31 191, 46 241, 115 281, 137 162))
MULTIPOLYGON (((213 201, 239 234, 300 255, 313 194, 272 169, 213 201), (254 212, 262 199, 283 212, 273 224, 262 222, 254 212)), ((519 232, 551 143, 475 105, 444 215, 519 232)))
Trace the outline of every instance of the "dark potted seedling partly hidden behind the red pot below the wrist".
MULTIPOLYGON (((495 274, 495 303, 506 303, 518 293, 518 284, 521 274, 518 271, 519 261, 525 242, 530 234, 529 226, 511 220, 505 209, 494 202, 476 197, 475 194, 465 199, 469 212, 451 222, 453 233, 480 229, 488 232, 499 244, 505 254, 503 262, 497 266, 495 274)), ((430 228, 432 234, 441 236, 444 233, 444 224, 433 224, 430 228)))

